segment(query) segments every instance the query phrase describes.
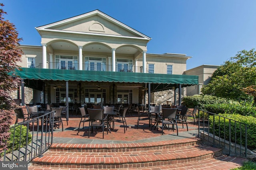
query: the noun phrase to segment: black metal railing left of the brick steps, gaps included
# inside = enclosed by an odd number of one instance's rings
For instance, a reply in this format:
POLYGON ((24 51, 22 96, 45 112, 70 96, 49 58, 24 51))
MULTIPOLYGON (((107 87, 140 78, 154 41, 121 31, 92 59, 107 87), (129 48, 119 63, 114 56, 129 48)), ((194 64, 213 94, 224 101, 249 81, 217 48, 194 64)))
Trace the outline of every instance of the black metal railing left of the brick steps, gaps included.
POLYGON ((30 162, 33 158, 42 156, 52 145, 53 116, 54 111, 51 111, 10 127, 13 129, 13 140, 8 142, 12 148, 9 149, 10 152, 4 150, 3 161, 30 162), (26 136, 24 136, 24 127, 26 127, 26 136), (15 138, 19 139, 18 143, 15 138), (21 143, 24 140, 26 141, 21 143))

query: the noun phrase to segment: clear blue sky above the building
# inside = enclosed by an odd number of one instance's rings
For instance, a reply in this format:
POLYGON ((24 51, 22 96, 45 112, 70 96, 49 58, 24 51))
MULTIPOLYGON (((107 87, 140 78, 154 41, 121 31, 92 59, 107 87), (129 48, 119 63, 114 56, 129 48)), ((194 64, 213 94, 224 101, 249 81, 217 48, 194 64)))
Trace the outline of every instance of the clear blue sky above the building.
POLYGON ((41 45, 35 27, 100 10, 149 36, 148 53, 192 56, 187 69, 221 65, 256 48, 256 0, 1 0, 22 45, 41 45))

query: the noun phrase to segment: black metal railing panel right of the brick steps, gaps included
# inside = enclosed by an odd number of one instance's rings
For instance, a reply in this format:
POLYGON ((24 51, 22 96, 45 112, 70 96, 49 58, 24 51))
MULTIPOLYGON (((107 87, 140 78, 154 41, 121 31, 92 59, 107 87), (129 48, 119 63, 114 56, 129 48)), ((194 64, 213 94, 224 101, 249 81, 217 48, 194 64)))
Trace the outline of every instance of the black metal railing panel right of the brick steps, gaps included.
POLYGON ((229 155, 247 157, 248 125, 246 123, 202 109, 198 109, 197 118, 198 135, 203 141, 227 150, 229 155))

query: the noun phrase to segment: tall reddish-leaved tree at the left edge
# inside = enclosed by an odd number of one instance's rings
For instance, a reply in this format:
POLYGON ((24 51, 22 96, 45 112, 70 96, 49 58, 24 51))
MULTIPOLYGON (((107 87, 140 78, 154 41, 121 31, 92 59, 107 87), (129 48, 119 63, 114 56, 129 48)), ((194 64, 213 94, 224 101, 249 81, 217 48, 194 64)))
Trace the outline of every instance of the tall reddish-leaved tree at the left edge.
POLYGON ((18 38, 14 24, 4 20, 4 4, 0 6, 0 152, 3 152, 6 148, 6 139, 10 135, 8 131, 14 107, 10 94, 17 90, 20 84, 14 70, 19 68, 16 62, 21 61, 22 51, 18 45, 22 39, 18 38))

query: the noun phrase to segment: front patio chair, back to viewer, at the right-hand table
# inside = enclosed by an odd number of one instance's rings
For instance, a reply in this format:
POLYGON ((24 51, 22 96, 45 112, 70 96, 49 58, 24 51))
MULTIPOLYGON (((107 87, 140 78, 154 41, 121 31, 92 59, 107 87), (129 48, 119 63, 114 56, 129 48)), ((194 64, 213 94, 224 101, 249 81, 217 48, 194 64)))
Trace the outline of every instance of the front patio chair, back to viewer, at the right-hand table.
POLYGON ((178 125, 176 121, 177 108, 162 108, 162 117, 160 123, 162 123, 162 135, 164 134, 164 127, 169 130, 169 125, 172 125, 172 131, 174 131, 174 125, 176 125, 178 135, 178 125), (168 127, 166 126, 168 125, 168 127))

